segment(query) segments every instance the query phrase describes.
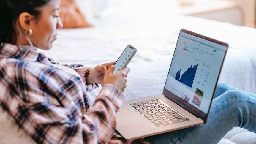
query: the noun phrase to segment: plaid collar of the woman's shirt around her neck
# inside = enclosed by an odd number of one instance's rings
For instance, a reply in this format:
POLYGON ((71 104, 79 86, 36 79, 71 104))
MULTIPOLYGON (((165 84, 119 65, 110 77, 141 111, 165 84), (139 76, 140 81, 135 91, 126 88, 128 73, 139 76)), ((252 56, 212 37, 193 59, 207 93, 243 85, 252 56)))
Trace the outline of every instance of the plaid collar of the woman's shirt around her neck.
POLYGON ((37 56, 37 48, 31 47, 30 45, 21 45, 20 48, 18 48, 16 45, 6 43, 0 50, 0 58, 15 58, 36 61, 37 56))

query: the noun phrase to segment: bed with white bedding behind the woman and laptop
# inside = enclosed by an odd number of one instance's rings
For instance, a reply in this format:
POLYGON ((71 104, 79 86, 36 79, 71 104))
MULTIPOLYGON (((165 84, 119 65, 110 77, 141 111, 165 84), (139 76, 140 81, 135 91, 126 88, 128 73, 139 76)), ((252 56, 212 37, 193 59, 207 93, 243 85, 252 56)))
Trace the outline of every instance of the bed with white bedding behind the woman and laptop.
MULTIPOLYGON (((127 11, 125 8, 115 8, 94 18, 92 27, 60 29, 53 48, 39 52, 60 64, 95 67, 116 61, 128 44, 136 47, 138 51, 128 64, 131 71, 124 90, 125 100, 130 100, 162 93, 178 34, 183 28, 227 42, 229 49, 219 82, 256 93, 256 29, 180 16, 168 10, 127 11)), ((101 86, 88 92, 90 105, 100 90, 101 86)), ((219 144, 236 143, 230 138, 224 137, 219 144)))

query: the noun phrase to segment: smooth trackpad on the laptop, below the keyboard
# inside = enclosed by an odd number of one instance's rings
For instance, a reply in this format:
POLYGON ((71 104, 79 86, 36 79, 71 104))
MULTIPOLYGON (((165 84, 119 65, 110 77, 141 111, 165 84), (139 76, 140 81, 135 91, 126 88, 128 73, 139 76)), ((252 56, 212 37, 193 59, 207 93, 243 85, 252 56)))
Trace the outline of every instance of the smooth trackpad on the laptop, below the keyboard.
POLYGON ((122 110, 118 111, 116 114, 116 119, 117 119, 117 127, 123 127, 123 126, 131 126, 131 125, 137 125, 138 123, 147 123, 149 120, 140 115, 140 112, 135 111, 134 109, 129 109, 129 110, 122 110))

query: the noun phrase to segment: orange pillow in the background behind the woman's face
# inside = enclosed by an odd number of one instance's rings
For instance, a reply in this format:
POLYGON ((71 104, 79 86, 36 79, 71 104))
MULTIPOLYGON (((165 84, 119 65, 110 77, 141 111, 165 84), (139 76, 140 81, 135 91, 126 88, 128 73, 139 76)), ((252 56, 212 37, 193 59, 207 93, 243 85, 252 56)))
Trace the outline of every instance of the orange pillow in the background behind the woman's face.
POLYGON ((90 27, 78 10, 75 0, 61 0, 59 17, 63 23, 63 28, 90 27))

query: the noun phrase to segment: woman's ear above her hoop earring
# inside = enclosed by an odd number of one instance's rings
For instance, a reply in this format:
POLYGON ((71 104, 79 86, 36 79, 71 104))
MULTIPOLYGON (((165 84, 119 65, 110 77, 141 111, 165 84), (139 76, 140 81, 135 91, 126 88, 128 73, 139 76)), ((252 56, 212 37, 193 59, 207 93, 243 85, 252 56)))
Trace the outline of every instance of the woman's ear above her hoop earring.
POLYGON ((25 31, 28 30, 31 24, 30 22, 33 20, 33 18, 34 16, 28 12, 22 12, 19 16, 20 27, 25 31))

